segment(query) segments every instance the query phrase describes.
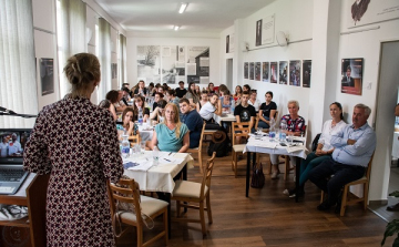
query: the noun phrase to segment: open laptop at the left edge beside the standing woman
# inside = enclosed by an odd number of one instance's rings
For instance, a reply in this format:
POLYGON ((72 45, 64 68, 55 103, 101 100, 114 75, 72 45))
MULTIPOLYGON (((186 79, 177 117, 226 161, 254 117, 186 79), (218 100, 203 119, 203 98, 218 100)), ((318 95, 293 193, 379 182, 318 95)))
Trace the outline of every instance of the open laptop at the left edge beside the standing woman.
POLYGON ((0 128, 0 195, 16 194, 29 172, 23 171, 23 150, 31 128, 0 128))

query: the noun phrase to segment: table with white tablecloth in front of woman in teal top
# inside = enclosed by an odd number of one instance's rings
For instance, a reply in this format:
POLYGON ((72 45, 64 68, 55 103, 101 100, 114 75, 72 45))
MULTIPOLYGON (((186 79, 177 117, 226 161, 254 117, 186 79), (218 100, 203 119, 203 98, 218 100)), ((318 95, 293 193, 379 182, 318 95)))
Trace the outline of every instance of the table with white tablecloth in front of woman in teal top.
MULTIPOLYGON (((187 168, 194 167, 194 158, 187 153, 160 152, 160 165, 152 166, 152 151, 145 151, 144 154, 131 155, 124 158, 124 163, 137 162, 141 164, 135 166, 134 169, 124 169, 124 175, 137 182, 141 191, 156 192, 160 199, 168 203, 167 225, 171 229, 171 195, 175 186, 173 178, 182 172, 183 179, 187 179, 187 168), (168 163, 167 161, 165 162, 165 159, 172 162, 168 163), (147 162, 142 165, 141 161, 147 162)), ((171 230, 168 235, 171 238, 171 230)))

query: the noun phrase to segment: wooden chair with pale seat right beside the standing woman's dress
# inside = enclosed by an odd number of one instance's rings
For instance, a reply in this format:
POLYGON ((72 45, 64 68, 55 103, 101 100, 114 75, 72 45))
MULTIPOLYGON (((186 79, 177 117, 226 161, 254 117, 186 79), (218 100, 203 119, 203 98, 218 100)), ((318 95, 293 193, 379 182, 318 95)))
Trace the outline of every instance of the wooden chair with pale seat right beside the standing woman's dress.
MULTIPOLYGON (((109 198, 111 205, 111 214, 113 215, 113 223, 119 217, 120 224, 113 224, 117 229, 123 225, 136 227, 137 246, 149 246, 160 238, 164 238, 165 246, 168 243, 168 228, 167 228, 167 203, 164 200, 155 199, 147 196, 140 195, 139 184, 134 179, 120 179, 119 184, 123 187, 115 186, 108 183, 109 198), (116 203, 117 202, 117 203, 116 203), (134 206, 135 213, 130 210, 120 210, 116 208, 119 204, 131 204, 134 206), (163 215, 164 230, 147 241, 143 239, 143 226, 146 217, 155 219, 155 217, 163 215), (145 218, 143 218, 143 216, 145 218)), ((114 229, 114 230, 116 230, 114 229)), ((122 236, 126 233, 127 227, 121 233, 122 236)))

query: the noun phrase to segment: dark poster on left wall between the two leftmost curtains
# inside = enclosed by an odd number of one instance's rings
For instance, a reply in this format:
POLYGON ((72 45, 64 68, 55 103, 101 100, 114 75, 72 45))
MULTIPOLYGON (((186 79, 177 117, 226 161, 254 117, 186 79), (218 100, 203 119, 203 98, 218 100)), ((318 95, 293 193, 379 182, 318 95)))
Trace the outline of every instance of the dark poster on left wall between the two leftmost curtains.
POLYGON ((40 59, 39 63, 42 96, 54 93, 54 59, 40 59))

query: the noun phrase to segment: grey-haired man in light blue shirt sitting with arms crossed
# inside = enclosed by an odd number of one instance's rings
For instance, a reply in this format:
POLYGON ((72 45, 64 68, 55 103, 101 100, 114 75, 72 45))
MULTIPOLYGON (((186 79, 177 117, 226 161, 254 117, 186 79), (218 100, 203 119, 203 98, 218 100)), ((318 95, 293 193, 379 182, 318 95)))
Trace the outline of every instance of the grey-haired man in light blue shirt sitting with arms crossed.
POLYGON ((331 158, 310 171, 309 179, 326 192, 328 197, 317 209, 328 210, 336 205, 341 188, 365 175, 376 150, 376 133, 367 124, 370 113, 367 105, 355 105, 352 124, 348 124, 331 137, 330 144, 335 148, 331 158), (326 177, 331 175, 334 176, 327 181, 326 177))

